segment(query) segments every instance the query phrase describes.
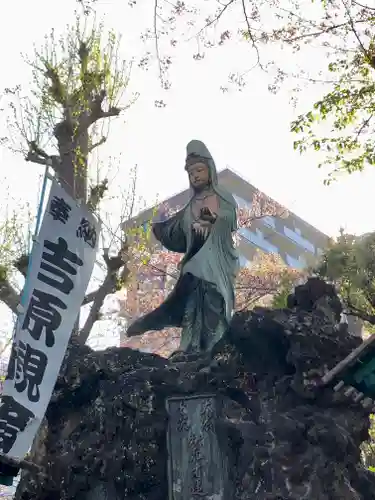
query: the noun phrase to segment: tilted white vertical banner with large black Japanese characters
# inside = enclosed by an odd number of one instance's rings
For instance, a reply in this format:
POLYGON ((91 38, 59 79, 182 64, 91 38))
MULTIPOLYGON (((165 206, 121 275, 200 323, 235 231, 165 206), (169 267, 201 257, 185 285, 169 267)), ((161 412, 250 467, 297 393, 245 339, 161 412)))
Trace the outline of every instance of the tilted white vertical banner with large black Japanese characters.
POLYGON ((52 181, 0 403, 0 453, 22 459, 51 399, 93 271, 100 225, 52 181))

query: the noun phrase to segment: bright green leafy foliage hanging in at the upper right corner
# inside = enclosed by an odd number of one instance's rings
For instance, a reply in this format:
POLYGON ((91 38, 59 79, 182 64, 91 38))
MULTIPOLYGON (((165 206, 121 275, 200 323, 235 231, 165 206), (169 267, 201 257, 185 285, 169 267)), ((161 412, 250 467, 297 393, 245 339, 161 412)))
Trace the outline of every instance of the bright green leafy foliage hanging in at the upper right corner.
MULTIPOLYGON (((295 149, 320 152, 330 165, 326 183, 339 173, 362 171, 375 164, 375 10, 346 0, 322 2, 319 28, 295 24, 290 43, 324 47, 328 64, 321 75, 329 91, 291 126, 300 138, 295 149)), ((317 82, 319 83, 319 82, 317 82)))

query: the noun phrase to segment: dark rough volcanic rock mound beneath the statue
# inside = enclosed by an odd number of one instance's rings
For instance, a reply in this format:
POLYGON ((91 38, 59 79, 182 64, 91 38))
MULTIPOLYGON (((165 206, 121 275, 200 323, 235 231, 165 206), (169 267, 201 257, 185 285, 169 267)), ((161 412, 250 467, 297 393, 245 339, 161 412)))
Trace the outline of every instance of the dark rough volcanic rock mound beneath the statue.
POLYGON ((234 500, 375 498, 360 465, 368 413, 319 385, 360 340, 338 329, 329 285, 289 305, 235 315, 211 360, 73 344, 34 452, 46 475, 25 474, 16 498, 167 500, 165 398, 197 391, 226 402, 234 500))

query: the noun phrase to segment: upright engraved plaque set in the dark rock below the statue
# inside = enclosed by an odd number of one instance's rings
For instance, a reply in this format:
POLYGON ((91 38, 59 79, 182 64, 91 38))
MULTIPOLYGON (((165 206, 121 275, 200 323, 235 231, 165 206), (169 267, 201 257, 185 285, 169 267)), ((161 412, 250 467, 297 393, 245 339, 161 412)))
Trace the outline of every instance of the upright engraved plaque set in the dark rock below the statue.
POLYGON ((227 500, 227 461, 215 422, 220 404, 214 395, 167 400, 169 500, 227 500))

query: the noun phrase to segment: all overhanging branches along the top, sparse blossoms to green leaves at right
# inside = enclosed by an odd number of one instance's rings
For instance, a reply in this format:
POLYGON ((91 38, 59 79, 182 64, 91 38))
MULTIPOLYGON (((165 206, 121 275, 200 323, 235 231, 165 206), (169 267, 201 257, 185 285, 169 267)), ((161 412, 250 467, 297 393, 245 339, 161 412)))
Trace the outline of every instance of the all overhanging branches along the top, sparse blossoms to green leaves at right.
MULTIPOLYGON (((140 2, 131 5, 135 8, 140 2)), ((321 165, 332 168, 326 183, 338 173, 375 164, 372 2, 156 0, 151 8, 153 26, 141 37, 146 53, 139 66, 147 69, 156 59, 162 88, 171 86, 169 69, 176 47, 190 44, 192 57, 202 61, 213 48, 232 42, 239 47, 245 42, 249 57, 228 62, 223 91, 231 86, 241 90, 254 69, 267 73, 271 92, 284 83, 292 85, 294 100, 302 90, 314 86, 322 97, 293 121, 291 130, 299 136, 295 149, 319 152, 321 165)), ((165 105, 163 101, 155 104, 165 105)))

